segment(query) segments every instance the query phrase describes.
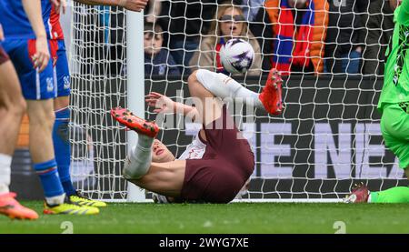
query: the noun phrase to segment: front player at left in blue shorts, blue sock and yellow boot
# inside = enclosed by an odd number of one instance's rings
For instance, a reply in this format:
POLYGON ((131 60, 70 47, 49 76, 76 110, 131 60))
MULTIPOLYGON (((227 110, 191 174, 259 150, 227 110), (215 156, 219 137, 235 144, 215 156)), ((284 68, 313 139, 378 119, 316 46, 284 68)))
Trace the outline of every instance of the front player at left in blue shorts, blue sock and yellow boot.
MULTIPOLYGON (((56 94, 53 65, 48 41, 50 25, 38 16, 35 22, 25 11, 35 9, 44 14, 49 0, 3 0, 0 2, 0 21, 4 26, 3 46, 15 65, 23 96, 27 103, 30 126, 29 149, 35 172, 40 176, 45 192, 47 214, 96 214, 95 207, 78 207, 65 197, 55 162, 52 129, 55 122, 54 98, 56 94), (27 4, 29 2, 29 4, 27 4), (33 28, 31 28, 31 25, 33 28)), ((28 11, 27 11, 28 13, 28 11)), ((51 50, 55 52, 55 50, 51 50)))

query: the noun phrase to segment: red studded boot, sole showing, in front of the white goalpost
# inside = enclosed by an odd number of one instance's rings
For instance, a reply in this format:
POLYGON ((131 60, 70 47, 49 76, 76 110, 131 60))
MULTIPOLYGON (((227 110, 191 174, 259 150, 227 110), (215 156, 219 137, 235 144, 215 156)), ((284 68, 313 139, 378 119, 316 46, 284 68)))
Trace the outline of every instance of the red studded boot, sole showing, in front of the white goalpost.
POLYGON ((120 124, 135 130, 139 134, 155 138, 159 133, 159 126, 156 125, 155 121, 150 122, 135 116, 129 109, 120 106, 115 107, 111 109, 111 116, 120 124))

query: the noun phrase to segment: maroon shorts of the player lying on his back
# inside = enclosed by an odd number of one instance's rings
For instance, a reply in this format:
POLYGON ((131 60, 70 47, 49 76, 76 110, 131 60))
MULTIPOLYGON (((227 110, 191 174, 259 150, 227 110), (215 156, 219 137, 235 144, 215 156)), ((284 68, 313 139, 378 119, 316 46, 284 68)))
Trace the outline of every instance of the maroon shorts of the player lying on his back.
POLYGON ((226 106, 223 115, 204 129, 206 141, 201 140, 206 145, 205 155, 186 160, 181 197, 185 201, 228 203, 252 175, 254 154, 226 106))

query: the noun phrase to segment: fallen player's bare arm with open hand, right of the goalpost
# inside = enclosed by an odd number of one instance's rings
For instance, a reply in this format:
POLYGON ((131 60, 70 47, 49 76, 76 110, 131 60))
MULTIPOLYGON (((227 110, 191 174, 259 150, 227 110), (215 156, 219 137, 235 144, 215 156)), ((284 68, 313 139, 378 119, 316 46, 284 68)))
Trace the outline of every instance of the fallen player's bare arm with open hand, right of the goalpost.
POLYGON ((154 107, 155 113, 176 113, 184 116, 189 116, 195 120, 199 118, 199 113, 195 106, 188 106, 182 103, 174 102, 168 96, 161 95, 156 92, 151 92, 145 96, 145 102, 148 106, 154 107))

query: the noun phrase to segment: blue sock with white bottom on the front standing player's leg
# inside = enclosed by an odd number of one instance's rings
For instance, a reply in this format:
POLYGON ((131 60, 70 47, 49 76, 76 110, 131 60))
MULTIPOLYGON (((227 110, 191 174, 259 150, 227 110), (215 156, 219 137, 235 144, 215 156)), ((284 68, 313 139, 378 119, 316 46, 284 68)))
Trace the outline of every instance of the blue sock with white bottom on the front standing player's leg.
POLYGON ((55 159, 44 163, 34 164, 35 172, 40 176, 43 186, 45 200, 49 205, 62 204, 64 202, 64 189, 58 176, 55 159))

